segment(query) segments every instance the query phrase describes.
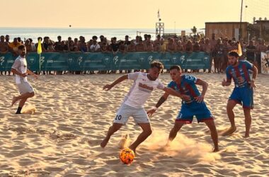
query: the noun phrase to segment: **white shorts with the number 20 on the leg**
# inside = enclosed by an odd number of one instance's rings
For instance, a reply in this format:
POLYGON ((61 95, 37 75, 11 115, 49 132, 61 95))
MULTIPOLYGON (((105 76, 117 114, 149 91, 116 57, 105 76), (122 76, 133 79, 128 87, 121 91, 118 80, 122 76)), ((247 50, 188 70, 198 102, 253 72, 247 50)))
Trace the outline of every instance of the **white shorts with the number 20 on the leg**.
POLYGON ((128 119, 134 118, 136 123, 149 123, 149 117, 147 116, 144 108, 135 108, 130 105, 122 103, 117 115, 114 119, 114 123, 126 124, 128 119))

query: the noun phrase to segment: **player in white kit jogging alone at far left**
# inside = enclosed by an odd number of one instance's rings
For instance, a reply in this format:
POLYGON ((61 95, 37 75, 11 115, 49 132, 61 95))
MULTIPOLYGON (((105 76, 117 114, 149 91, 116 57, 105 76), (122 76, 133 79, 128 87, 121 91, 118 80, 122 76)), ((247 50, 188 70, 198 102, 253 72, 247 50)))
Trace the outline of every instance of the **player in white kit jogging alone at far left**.
POLYGON ((35 96, 33 87, 27 81, 27 74, 33 75, 36 79, 38 76, 27 69, 27 62, 25 59, 26 49, 24 45, 18 46, 18 54, 19 56, 15 59, 15 62, 11 67, 11 72, 16 74, 16 84, 20 96, 13 96, 11 106, 13 106, 16 101, 20 100, 16 114, 21 114, 21 109, 23 108, 25 101, 27 101, 28 98, 35 96))

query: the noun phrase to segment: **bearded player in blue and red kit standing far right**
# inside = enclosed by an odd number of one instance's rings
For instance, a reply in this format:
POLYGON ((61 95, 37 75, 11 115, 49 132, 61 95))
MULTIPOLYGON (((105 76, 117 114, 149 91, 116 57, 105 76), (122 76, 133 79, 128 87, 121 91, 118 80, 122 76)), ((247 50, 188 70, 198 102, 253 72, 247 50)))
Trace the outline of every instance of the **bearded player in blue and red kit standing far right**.
POLYGON ((236 131, 234 123, 234 106, 239 103, 243 105, 245 115, 246 133, 245 137, 249 137, 251 129, 251 109, 253 109, 253 88, 256 88, 255 79, 258 69, 247 61, 239 60, 237 52, 229 52, 229 66, 226 69, 227 80, 222 81, 222 86, 231 85, 231 78, 234 80, 234 91, 229 97, 227 103, 227 115, 231 123, 231 127, 223 135, 231 135, 236 131), (253 71, 253 76, 249 74, 249 70, 253 71))

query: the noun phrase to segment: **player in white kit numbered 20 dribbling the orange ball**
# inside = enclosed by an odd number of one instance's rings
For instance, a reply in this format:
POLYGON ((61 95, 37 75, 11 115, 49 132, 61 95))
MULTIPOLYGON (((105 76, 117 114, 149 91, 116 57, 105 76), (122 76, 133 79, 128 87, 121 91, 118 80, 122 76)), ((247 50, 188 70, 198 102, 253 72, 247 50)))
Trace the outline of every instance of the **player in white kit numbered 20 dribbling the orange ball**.
POLYGON ((164 69, 164 65, 161 64, 161 62, 153 62, 150 65, 149 73, 135 72, 125 74, 112 84, 103 86, 103 89, 108 91, 112 89, 113 86, 126 79, 132 79, 134 81, 134 84, 132 84, 129 93, 127 93, 127 96, 118 110, 113 125, 109 128, 108 134, 105 139, 103 139, 103 142, 101 142, 101 147, 106 146, 111 135, 120 130, 120 127, 122 127, 131 116, 134 118, 135 122, 142 127, 143 132, 137 137, 137 140, 130 145, 130 149, 135 152, 137 146, 151 135, 151 125, 143 105, 154 89, 161 89, 173 96, 178 96, 186 100, 190 99, 189 96, 185 96, 161 84, 158 77, 162 69, 164 69))

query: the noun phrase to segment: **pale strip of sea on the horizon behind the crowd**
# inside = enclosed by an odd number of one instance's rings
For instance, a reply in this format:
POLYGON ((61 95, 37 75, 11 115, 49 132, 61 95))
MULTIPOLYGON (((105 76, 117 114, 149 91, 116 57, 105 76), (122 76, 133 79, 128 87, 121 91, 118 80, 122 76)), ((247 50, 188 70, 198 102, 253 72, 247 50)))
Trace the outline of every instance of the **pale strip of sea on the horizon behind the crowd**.
MULTIPOLYGON (((181 35, 181 30, 185 30, 188 34, 191 32, 190 29, 164 29, 164 33, 176 33, 181 35)), ((130 40, 135 39, 136 35, 143 36, 144 34, 151 34, 152 39, 155 39, 154 28, 9 28, 1 27, 0 35, 9 35, 10 41, 13 38, 21 37, 21 40, 32 38, 33 42, 38 42, 38 37, 44 38, 45 36, 50 37, 51 40, 57 41, 57 36, 61 35, 62 40, 67 40, 68 37, 79 38, 84 36, 86 41, 90 40, 93 35, 98 38, 100 35, 104 35, 105 38, 117 37, 117 40, 125 40, 125 35, 129 35, 130 40)))

